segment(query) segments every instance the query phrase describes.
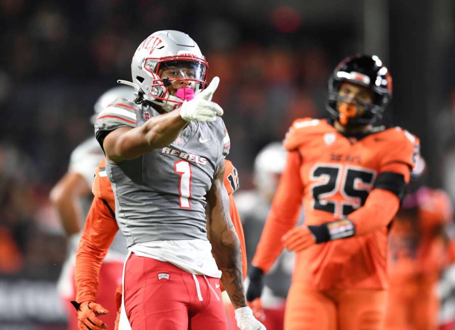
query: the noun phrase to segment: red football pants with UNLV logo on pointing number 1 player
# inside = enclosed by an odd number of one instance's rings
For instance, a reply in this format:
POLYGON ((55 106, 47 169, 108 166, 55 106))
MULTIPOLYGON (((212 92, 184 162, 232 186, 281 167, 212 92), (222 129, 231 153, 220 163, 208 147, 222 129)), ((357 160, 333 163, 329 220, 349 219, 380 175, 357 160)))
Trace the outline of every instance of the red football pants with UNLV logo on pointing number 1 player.
POLYGON ((193 275, 169 262, 131 254, 125 309, 133 330, 227 330, 219 278, 193 275))

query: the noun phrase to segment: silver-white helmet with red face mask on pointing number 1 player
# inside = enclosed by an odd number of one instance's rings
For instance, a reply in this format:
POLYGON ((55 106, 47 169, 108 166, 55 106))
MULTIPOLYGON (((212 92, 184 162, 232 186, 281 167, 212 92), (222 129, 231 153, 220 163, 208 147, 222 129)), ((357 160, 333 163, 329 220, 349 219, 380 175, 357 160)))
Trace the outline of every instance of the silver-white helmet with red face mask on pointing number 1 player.
POLYGON ((171 95, 169 87, 201 91, 205 88, 208 67, 199 46, 188 34, 175 30, 157 31, 136 50, 131 62, 133 83, 129 84, 137 89, 139 98, 169 112, 186 99, 186 92, 180 94, 182 99, 171 95))

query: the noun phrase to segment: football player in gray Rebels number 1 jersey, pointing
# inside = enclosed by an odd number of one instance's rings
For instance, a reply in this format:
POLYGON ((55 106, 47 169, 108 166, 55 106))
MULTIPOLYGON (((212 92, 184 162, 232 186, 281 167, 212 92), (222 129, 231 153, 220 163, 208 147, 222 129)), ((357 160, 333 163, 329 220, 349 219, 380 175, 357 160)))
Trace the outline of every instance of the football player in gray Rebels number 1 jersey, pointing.
POLYGON ((229 135, 207 68, 187 34, 155 32, 136 50, 133 82, 120 81, 134 102, 112 103, 95 122, 130 251, 120 329, 227 329, 220 278, 239 328, 265 328, 246 306, 223 184, 229 135))

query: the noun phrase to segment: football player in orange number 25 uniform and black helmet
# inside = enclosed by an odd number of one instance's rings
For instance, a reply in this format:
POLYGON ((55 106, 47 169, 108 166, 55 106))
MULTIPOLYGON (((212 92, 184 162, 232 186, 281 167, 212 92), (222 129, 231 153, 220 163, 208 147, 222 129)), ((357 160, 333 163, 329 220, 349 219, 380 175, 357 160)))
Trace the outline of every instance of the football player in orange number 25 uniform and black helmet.
POLYGON ((286 167, 250 271, 247 300, 282 248, 296 252, 284 328, 379 330, 387 303, 387 233, 419 139, 375 126, 392 96, 377 56, 342 61, 328 82, 330 119, 296 120, 286 167), (304 204, 305 222, 296 227, 304 204))

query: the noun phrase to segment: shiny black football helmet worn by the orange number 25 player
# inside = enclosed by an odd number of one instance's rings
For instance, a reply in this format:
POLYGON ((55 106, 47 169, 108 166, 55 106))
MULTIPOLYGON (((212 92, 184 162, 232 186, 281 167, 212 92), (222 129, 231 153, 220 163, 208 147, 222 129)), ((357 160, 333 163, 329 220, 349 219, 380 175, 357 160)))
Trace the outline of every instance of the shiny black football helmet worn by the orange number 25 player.
POLYGON ((392 99, 392 76, 389 70, 376 55, 355 55, 344 59, 334 70, 328 80, 326 110, 330 116, 340 119, 337 103, 342 102, 338 95, 343 81, 368 87, 374 93, 373 103, 362 104, 364 113, 350 117, 349 125, 373 124, 380 120, 387 104, 392 99))

